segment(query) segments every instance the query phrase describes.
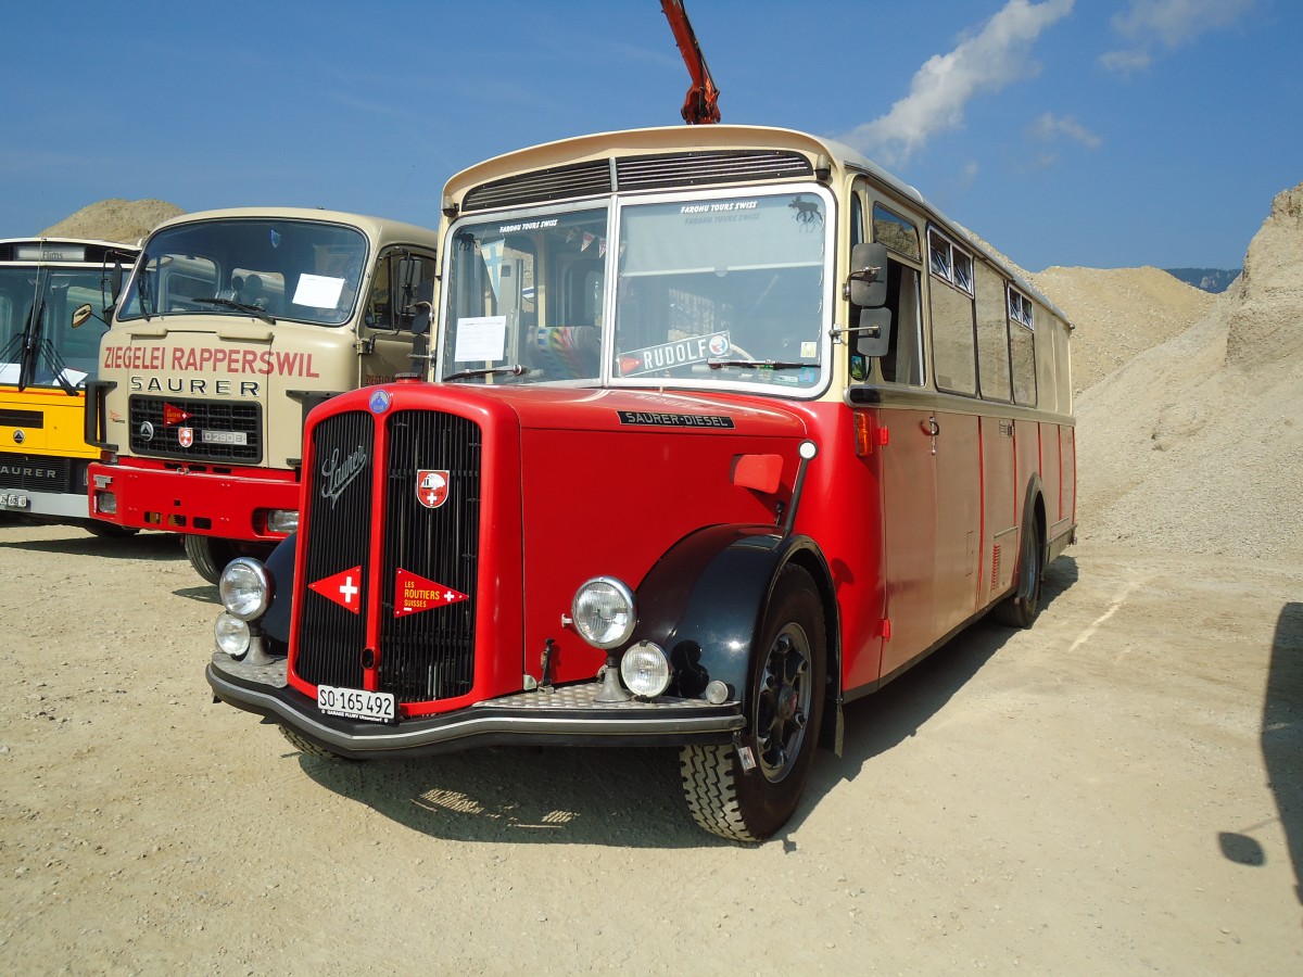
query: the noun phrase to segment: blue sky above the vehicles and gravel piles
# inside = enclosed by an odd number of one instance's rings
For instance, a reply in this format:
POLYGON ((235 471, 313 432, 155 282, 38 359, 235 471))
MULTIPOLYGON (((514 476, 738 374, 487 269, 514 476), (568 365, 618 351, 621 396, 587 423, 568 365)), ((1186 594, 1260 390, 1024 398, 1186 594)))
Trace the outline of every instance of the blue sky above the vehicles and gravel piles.
MULTIPOLYGON (((1303 181, 1295 0, 687 7, 723 121, 850 141, 1029 271, 1238 267, 1303 181)), ((0 38, 0 237, 111 197, 434 227, 457 169, 688 87, 657 0, 5 0, 0 38)))

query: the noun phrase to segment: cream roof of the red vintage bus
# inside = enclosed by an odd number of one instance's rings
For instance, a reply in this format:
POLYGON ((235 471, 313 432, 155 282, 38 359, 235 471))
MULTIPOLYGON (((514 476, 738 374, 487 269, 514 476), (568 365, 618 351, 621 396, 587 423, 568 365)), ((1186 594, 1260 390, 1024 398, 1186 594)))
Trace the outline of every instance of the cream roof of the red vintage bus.
MULTIPOLYGON (((1040 289, 1032 285, 1011 267, 1001 255, 992 253, 992 246, 973 236, 962 224, 946 218, 937 207, 919 193, 917 189, 887 172, 856 150, 834 139, 761 125, 694 125, 659 126, 654 129, 624 129, 589 135, 575 135, 555 142, 541 143, 526 149, 506 152, 500 156, 477 163, 455 173, 444 186, 444 212, 456 214, 465 195, 482 188, 509 180, 524 173, 564 167, 568 164, 605 160, 623 156, 640 156, 662 151, 709 152, 724 149, 770 149, 796 151, 804 155, 818 173, 822 168, 831 171, 838 167, 846 172, 861 172, 874 177, 896 195, 919 207, 930 220, 947 234, 959 238, 988 261, 1002 268, 1019 288, 1035 296, 1038 302, 1050 309, 1067 323, 1067 317, 1040 289)), ((739 177, 743 180, 745 177, 739 177)), ((821 177, 823 178, 823 177, 821 177)), ((609 190, 607 190, 609 193, 609 190)), ((577 195, 577 194, 576 194, 577 195)), ((594 194, 595 195, 595 194, 594 194)), ((539 197, 539 203, 543 198, 539 197)))

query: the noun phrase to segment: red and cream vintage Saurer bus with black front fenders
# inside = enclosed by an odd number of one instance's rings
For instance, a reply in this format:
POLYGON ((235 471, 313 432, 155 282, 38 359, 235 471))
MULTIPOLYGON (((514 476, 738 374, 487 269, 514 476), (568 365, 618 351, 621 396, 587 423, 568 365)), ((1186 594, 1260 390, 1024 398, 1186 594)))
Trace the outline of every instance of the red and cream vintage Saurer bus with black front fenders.
POLYGON ((294 546, 237 560, 215 694, 305 752, 681 749, 757 840, 844 703, 1075 533, 1070 326, 835 143, 706 126, 455 176, 434 379, 305 432, 294 546))

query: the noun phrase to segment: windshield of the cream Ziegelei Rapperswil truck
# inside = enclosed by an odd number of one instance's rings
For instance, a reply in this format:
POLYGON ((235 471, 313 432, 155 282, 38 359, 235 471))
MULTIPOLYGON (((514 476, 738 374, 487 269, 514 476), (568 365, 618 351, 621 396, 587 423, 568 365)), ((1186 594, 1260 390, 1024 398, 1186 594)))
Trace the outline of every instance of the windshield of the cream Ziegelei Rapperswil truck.
POLYGON ((366 257, 366 237, 339 224, 179 224, 146 242, 117 318, 237 315, 343 326, 353 318, 366 257))

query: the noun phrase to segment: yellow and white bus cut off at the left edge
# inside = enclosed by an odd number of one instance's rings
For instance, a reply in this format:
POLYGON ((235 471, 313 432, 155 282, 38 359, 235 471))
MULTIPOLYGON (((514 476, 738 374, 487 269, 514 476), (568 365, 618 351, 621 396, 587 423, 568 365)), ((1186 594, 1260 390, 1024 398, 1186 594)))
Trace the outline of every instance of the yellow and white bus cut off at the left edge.
POLYGON ((86 383, 137 249, 77 238, 0 240, 0 515, 93 533, 86 468, 86 383), (89 306, 90 315, 73 310, 89 306))

